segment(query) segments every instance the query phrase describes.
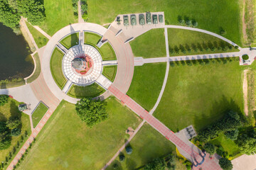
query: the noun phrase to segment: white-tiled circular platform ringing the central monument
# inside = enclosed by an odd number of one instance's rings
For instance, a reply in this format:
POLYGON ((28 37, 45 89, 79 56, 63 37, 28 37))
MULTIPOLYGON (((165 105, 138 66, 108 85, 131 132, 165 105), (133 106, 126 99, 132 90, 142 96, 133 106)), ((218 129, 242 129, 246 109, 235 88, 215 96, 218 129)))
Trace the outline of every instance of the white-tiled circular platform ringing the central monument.
POLYGON ((100 52, 91 45, 75 45, 71 47, 63 57, 63 74, 65 77, 79 86, 87 86, 94 83, 102 74, 102 57, 100 52), (85 70, 78 70, 72 66, 75 58, 90 59, 85 70))

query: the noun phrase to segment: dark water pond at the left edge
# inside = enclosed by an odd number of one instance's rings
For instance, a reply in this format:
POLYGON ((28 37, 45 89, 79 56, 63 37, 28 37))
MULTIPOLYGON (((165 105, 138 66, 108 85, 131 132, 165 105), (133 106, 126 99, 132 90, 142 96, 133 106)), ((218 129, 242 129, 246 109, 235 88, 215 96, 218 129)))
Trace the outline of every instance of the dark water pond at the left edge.
POLYGON ((28 77, 33 72, 33 59, 23 35, 0 23, 0 81, 28 77))

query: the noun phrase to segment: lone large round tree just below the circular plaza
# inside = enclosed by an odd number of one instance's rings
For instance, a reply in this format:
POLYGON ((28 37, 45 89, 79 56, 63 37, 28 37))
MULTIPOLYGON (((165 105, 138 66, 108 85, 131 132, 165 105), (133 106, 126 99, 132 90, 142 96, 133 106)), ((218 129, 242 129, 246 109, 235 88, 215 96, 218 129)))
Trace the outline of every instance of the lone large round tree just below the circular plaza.
POLYGON ((89 128, 92 128, 93 125, 97 125, 109 118, 106 112, 106 105, 105 101, 81 98, 81 100, 75 104, 75 111, 80 119, 85 122, 89 128))

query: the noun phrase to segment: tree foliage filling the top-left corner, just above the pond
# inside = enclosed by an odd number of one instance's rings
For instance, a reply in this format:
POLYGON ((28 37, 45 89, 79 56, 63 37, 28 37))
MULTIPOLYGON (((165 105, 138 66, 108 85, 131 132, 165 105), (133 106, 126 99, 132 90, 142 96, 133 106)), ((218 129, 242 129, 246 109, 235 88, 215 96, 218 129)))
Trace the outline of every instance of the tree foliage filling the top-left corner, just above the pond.
POLYGON ((0 0, 0 22, 4 26, 15 28, 18 26, 20 19, 18 12, 9 6, 8 0, 0 0))

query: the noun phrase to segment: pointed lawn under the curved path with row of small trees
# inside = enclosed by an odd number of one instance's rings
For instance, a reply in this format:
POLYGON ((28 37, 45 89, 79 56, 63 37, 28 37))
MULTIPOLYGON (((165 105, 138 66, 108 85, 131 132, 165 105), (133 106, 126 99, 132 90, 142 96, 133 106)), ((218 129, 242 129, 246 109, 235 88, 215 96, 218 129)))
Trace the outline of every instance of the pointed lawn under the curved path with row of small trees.
POLYGON ((168 39, 170 56, 239 51, 233 45, 228 44, 228 42, 193 30, 169 28, 168 39), (229 49, 228 47, 232 48, 229 49))

